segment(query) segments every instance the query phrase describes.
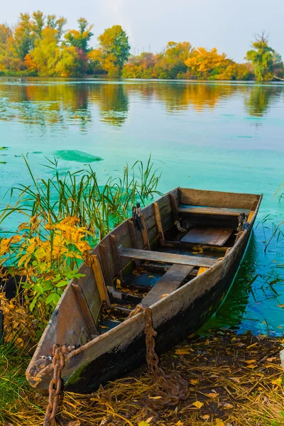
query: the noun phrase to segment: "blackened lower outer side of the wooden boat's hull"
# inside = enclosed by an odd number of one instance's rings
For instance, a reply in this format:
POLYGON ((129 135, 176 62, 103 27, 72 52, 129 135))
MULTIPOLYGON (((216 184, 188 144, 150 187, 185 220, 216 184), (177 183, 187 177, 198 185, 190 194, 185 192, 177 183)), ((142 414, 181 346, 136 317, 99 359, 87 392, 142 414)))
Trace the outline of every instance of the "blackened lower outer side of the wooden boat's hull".
MULTIPOLYGON (((177 315, 168 317, 168 320, 155 328, 158 332, 155 349, 159 355, 173 348, 190 333, 197 331, 217 310, 238 271, 250 233, 251 229, 246 231, 243 241, 239 241, 241 243, 239 248, 232 256, 229 265, 224 266, 225 271, 223 268, 219 271, 220 278, 214 285, 190 303, 185 310, 180 310, 177 315), (222 277, 222 275, 224 276, 222 277)), ((208 272, 209 274, 210 272, 208 272)), ((208 279, 210 279, 209 276, 208 279)), ((190 291, 190 288, 187 291, 190 291)), ((65 382, 65 390, 75 393, 92 393, 100 385, 124 376, 145 361, 145 336, 140 334, 124 349, 114 348, 80 368, 80 371, 77 371, 65 382)))

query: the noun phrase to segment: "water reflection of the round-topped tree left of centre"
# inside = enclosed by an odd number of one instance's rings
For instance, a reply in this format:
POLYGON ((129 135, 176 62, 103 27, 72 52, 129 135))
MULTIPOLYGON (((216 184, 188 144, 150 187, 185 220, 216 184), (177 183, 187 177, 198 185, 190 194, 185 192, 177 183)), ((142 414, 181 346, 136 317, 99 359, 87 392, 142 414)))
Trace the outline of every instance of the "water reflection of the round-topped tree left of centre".
POLYGON ((129 110, 129 99, 124 84, 102 83, 91 86, 92 100, 99 105, 102 121, 121 126, 129 110))

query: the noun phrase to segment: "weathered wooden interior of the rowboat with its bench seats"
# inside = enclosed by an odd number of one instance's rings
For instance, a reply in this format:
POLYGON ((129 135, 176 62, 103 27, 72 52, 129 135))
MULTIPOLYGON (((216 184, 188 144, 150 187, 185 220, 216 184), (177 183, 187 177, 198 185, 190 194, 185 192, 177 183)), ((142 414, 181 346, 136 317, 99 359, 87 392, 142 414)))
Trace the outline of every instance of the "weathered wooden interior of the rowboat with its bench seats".
POLYGON ((251 222, 259 198, 177 188, 145 209, 133 208, 132 219, 94 250, 98 302, 81 300, 93 324, 89 339, 123 322, 136 305, 150 307, 212 268, 251 222))

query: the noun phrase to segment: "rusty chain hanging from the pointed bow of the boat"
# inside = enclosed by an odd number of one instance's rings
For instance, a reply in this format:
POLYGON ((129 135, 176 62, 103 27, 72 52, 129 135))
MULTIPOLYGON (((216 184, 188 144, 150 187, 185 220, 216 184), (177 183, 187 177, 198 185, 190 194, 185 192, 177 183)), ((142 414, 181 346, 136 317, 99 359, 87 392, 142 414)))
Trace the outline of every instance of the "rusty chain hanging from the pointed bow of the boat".
POLYGON ((58 409, 58 399, 61 391, 61 371, 65 364, 64 354, 67 349, 65 345, 60 346, 59 344, 53 345, 53 378, 49 384, 49 397, 48 397, 48 407, 46 408, 45 418, 43 420, 43 426, 54 426, 55 425, 55 415, 58 409))

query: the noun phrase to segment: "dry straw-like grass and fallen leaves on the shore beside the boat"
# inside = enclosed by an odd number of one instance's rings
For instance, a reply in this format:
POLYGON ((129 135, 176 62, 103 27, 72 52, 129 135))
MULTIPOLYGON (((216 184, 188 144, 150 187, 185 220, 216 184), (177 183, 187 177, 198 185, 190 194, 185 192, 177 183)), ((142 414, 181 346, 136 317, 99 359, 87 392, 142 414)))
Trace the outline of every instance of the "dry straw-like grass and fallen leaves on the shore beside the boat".
MULTIPOLYGON (((146 368, 110 383, 92 395, 65 393, 57 425, 99 426, 280 426, 284 395, 280 345, 283 339, 218 332, 209 338, 190 337, 162 356, 167 371, 178 371, 190 383, 190 395, 176 408, 151 420, 141 399, 151 397, 153 384, 146 368), (146 396, 145 396, 146 395, 146 396)), ((13 426, 41 426, 45 395, 32 391, 9 416, 13 426), (33 407, 31 406, 33 403, 33 407)), ((150 416, 151 417, 151 416, 150 416)))

